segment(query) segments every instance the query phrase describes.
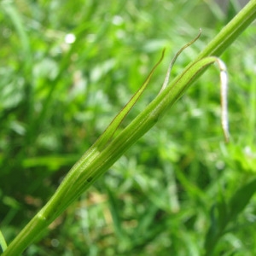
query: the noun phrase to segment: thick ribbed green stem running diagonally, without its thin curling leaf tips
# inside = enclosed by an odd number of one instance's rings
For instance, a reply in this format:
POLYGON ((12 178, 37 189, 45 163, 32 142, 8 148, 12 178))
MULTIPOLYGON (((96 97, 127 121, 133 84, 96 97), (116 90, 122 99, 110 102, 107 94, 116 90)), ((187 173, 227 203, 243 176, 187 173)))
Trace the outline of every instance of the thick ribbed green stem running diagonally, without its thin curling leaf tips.
MULTIPOLYGON (((29 224, 20 231, 15 240, 9 244, 3 256, 20 255, 26 247, 44 230, 61 212, 63 212, 79 195, 88 189, 102 173, 106 172, 133 143, 143 136, 160 117, 169 109, 183 92, 198 79, 201 74, 216 61, 230 44, 256 18, 256 0, 247 6, 218 33, 216 38, 201 51, 195 61, 185 67, 183 73, 173 79, 165 90, 154 98, 147 108, 134 119, 119 136, 107 143, 105 148, 93 148, 90 154, 84 154, 73 166, 67 177, 44 208, 32 218, 29 224)), ((93 146, 92 146, 93 147, 93 146)))

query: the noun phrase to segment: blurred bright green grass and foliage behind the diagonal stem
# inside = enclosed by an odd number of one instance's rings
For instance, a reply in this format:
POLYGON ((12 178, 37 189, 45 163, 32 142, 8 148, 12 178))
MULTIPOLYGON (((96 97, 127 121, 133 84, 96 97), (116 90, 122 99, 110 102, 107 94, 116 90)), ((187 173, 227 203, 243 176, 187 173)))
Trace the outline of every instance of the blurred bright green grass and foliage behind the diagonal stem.
MULTIPOLYGON (((160 90, 174 53, 202 28, 172 77, 236 14, 232 3, 227 14, 200 0, 0 3, 0 220, 7 241, 143 83, 161 49, 165 61, 124 125, 160 90)), ((229 145, 212 67, 25 255, 202 255, 217 218, 212 209, 224 211, 223 201, 256 172, 255 30, 222 56, 230 76, 229 145)), ((228 224, 214 255, 253 255, 255 205, 253 198, 228 224)))

